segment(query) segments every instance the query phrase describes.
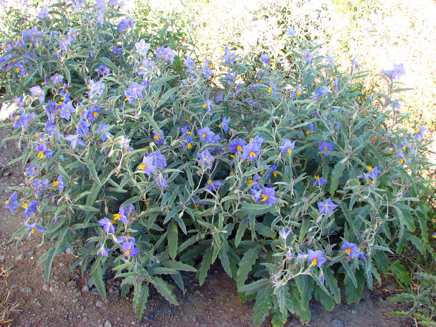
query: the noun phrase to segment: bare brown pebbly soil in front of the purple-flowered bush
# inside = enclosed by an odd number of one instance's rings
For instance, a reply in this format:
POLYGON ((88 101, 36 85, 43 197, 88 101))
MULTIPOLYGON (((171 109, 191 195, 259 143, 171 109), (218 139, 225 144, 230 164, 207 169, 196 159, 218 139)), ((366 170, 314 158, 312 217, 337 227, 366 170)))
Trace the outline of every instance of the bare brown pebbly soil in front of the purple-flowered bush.
MULTIPOLYGON (((8 135, 7 129, 0 130, 1 140, 8 135)), ((47 283, 44 265, 37 266, 37 261, 52 245, 47 242, 41 244, 41 234, 30 239, 24 238, 18 247, 15 242, 7 243, 23 223, 21 218, 8 223, 10 211, 3 205, 11 194, 7 187, 23 181, 21 164, 7 164, 20 152, 16 141, 7 141, 0 146, 0 255, 5 256, 5 267, 13 266, 8 287, 11 300, 19 302, 19 310, 13 312, 15 320, 10 326, 254 326, 251 319, 253 303, 238 302, 236 284, 220 268, 219 263, 211 268, 203 286, 198 285, 193 273, 183 276, 187 291, 185 294, 181 290, 176 291, 179 307, 169 304, 156 290, 150 290, 149 302, 140 322, 137 322, 133 313, 133 294, 121 299, 119 281, 114 281, 110 273, 107 274, 106 300, 92 290, 82 291, 91 274, 89 270, 82 274, 80 267, 70 268, 75 261, 74 253, 62 253, 54 258, 51 279, 47 283), (24 254, 24 259, 17 260, 21 254, 24 254), (31 287, 31 291, 23 292, 23 287, 31 287)), ((392 310, 404 308, 386 300, 387 296, 399 292, 398 286, 392 281, 386 284, 376 283, 374 290, 364 290, 364 299, 360 303, 341 303, 333 312, 325 310, 313 300, 310 304, 312 320, 306 326, 409 326, 409 322, 387 316, 392 310), (386 291, 381 291, 382 288, 386 291)), ((262 326, 271 326, 270 320, 271 317, 268 317, 262 326)), ((298 317, 290 316, 285 326, 297 327, 301 324, 298 317)))

